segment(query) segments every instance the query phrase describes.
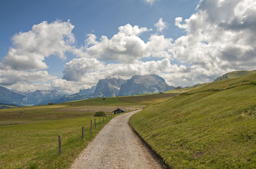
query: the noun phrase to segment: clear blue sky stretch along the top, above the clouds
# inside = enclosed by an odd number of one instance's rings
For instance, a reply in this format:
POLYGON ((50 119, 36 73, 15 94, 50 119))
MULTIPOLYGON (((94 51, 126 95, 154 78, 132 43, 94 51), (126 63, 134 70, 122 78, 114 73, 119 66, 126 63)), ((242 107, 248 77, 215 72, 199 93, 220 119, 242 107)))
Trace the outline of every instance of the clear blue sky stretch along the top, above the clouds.
MULTIPOLYGON (((125 1, 19 1, 3 0, 1 3, 1 56, 5 56, 11 44, 12 35, 28 32, 42 21, 70 20, 75 28, 78 45, 84 43, 86 34, 112 37, 117 28, 126 24, 153 28, 159 18, 165 18, 171 31, 164 31, 167 37, 177 38, 182 34, 174 26, 176 17, 188 18, 195 12, 199 0, 156 1, 152 5, 143 0, 125 1)), ((147 37, 146 37, 147 38, 147 37)))

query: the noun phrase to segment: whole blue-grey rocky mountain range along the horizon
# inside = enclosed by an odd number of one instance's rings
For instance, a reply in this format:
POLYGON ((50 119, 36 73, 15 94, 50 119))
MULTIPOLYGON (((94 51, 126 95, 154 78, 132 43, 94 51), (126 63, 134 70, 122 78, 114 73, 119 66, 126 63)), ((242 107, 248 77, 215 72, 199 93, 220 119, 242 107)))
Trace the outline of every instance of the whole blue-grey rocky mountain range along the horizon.
POLYGON ((128 80, 121 78, 100 79, 96 86, 80 90, 79 93, 73 95, 62 95, 56 90, 14 91, 0 86, 0 103, 18 106, 44 105, 95 97, 142 95, 164 92, 174 88, 156 74, 134 75, 128 80))

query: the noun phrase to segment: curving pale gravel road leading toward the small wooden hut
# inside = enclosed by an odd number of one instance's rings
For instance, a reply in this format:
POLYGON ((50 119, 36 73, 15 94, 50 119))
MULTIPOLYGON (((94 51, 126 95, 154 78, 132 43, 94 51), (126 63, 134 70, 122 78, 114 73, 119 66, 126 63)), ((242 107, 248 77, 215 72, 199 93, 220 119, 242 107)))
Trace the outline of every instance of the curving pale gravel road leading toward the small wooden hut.
POLYGON ((129 126, 134 112, 114 117, 70 168, 163 168, 129 126))

